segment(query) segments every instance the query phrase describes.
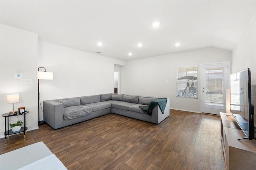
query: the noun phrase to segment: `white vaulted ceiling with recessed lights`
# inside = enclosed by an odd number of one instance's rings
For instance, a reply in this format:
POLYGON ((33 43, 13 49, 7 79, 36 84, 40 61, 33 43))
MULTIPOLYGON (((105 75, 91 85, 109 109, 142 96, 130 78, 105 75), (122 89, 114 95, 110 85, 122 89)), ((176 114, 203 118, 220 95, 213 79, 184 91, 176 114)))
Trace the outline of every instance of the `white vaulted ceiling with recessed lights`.
POLYGON ((2 24, 38 33, 40 41, 125 61, 204 47, 232 51, 256 17, 254 0, 0 3, 2 24))

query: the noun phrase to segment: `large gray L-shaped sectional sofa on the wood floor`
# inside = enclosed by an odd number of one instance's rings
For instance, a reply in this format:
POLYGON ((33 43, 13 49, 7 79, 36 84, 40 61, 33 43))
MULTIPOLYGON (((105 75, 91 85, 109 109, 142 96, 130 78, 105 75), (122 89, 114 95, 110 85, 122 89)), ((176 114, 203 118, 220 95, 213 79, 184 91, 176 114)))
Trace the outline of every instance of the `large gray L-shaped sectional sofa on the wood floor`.
POLYGON ((170 115, 170 101, 162 113, 159 106, 147 114, 139 106, 149 106, 157 98, 126 94, 99 94, 44 101, 44 121, 58 129, 95 117, 115 113, 151 123, 160 123, 170 115))

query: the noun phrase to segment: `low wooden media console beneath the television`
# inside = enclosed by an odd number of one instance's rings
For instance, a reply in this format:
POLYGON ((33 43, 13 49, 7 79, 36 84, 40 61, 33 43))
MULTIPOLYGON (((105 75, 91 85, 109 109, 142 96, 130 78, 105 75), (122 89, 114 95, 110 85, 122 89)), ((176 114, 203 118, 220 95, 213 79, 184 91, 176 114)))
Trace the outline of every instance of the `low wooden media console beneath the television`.
POLYGON ((256 168, 256 140, 245 137, 231 113, 220 113, 220 133, 227 170, 256 168))

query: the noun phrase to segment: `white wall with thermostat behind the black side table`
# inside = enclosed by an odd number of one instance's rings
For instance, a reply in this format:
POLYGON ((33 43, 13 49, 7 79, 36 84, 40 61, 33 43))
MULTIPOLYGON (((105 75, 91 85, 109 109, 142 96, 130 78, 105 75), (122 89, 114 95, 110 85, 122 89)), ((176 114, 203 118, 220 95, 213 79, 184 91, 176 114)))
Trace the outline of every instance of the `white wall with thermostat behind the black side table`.
MULTIPOLYGON (((1 24, 0 58, 0 113, 12 111, 12 104, 7 103, 7 95, 19 94, 20 102, 14 103, 14 109, 25 107, 26 127, 38 128, 37 111, 37 42, 38 35, 22 29, 1 24), (21 73, 22 78, 14 78, 21 73), (22 79, 32 80, 32 84, 22 84, 22 79)), ((10 117, 10 123, 22 120, 23 116, 10 117)), ((0 118, 0 137, 4 137, 4 117, 0 118)))

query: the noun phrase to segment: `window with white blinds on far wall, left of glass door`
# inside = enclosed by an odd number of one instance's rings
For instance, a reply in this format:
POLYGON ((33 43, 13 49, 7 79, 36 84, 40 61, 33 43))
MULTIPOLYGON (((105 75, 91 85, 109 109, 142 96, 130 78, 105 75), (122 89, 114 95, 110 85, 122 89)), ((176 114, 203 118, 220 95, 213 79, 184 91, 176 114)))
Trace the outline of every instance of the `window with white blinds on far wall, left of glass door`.
POLYGON ((176 68, 176 96, 197 99, 197 67, 176 68))

